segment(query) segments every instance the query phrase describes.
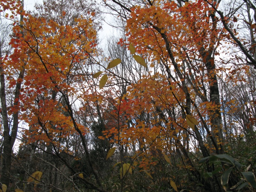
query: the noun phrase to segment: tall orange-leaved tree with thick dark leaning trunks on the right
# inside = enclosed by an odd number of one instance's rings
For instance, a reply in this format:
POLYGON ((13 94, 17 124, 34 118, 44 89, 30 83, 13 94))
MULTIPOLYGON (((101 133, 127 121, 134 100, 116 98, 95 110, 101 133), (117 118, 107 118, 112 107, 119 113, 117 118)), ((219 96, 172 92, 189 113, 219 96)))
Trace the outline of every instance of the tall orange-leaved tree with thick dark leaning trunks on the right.
MULTIPOLYGON (((159 60, 162 68, 165 69, 165 81, 168 82, 169 89, 171 91, 174 90, 172 85, 176 84, 182 90, 183 100, 178 99, 178 93, 171 92, 171 95, 178 102, 178 106, 173 107, 180 108, 180 118, 186 118, 186 122, 192 130, 184 129, 186 125, 183 124, 180 127, 190 134, 190 138, 192 137, 196 140, 202 156, 207 157, 214 153, 223 154, 222 116, 220 113, 220 92, 217 79, 218 72, 223 69, 217 65, 216 60, 216 57, 221 53, 220 45, 233 39, 234 44, 250 60, 252 65, 254 59, 251 53, 244 49, 242 41, 237 40, 233 36, 233 31, 230 31, 227 24, 230 22, 229 15, 224 18, 222 12, 217 10, 220 1, 209 3, 208 1, 126 2, 112 0, 105 1, 105 3, 122 20, 127 22, 126 36, 129 42, 120 40, 120 43, 127 47, 132 44, 137 52, 147 53, 145 57, 149 62, 156 59, 159 60), (216 16, 216 13, 220 14, 221 20, 216 16), (194 118, 196 116, 197 120, 194 118), (206 132, 205 137, 203 137, 203 132, 206 132), (208 146, 205 145, 205 140, 207 140, 208 146)), ((230 15, 235 14, 235 11, 230 15)), ((148 87, 145 84, 142 86, 148 87)), ((152 85, 150 84, 146 90, 148 91, 151 88, 152 85)), ((146 90, 141 91, 139 89, 139 91, 134 87, 131 89, 135 90, 135 94, 132 95, 133 100, 146 92, 146 90), (139 93, 139 95, 136 93, 139 93)), ((158 95, 158 97, 161 96, 158 95)), ((141 102, 143 99, 140 98, 139 100, 141 102)), ((156 103, 154 98, 151 102, 152 104, 156 103)), ((170 124, 173 125, 171 120, 175 120, 174 117, 177 117, 177 113, 173 117, 170 112, 168 113, 168 108, 170 110, 170 107, 163 108, 161 106, 163 101, 160 103, 154 106, 156 114, 159 116, 159 121, 164 123, 164 127, 172 127, 170 126, 170 124), (163 110, 166 110, 166 113, 163 110)), ((173 104, 170 101, 166 103, 173 104)), ((131 106, 137 105, 131 104, 131 106)), ((136 111, 141 112, 141 110, 143 109, 136 111)), ((145 125, 144 130, 146 127, 147 125, 145 125)), ((145 133, 145 135, 149 134, 145 133)), ((184 139, 185 135, 182 135, 182 137, 184 139)), ((175 136, 174 138, 176 148, 179 148, 184 157, 184 165, 186 164, 190 167, 188 171, 195 177, 194 181, 208 182, 207 185, 204 185, 206 190, 222 191, 217 177, 213 176, 213 180, 207 181, 198 179, 201 178, 200 172, 196 170, 194 163, 192 163, 188 150, 182 145, 179 137, 175 136), (211 187, 208 188, 207 186, 211 187)), ((207 167, 208 172, 213 170, 214 167, 207 167)))

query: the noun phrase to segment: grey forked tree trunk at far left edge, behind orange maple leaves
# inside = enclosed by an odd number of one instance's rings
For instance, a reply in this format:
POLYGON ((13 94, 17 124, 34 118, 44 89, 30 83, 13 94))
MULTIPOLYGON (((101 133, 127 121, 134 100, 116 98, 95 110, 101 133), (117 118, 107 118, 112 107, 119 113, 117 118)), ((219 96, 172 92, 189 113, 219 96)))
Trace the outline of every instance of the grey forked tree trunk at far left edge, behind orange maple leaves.
MULTIPOLYGON (((23 7, 24 1, 20 3, 16 3, 15 1, 10 2, 1 2, 1 12, 4 12, 6 9, 11 10, 14 14, 20 14, 20 21, 16 23, 16 30, 20 32, 20 37, 23 37, 23 30, 22 30, 22 23, 23 23, 23 7), (20 25, 20 26, 19 26, 20 25)), ((8 18, 8 13, 5 15, 8 18)), ((11 16, 14 18, 14 15, 11 16)), ((3 133, 3 160, 2 160, 2 170, 1 170, 1 182, 5 184, 7 187, 10 182, 10 171, 11 171, 11 156, 12 156, 12 148, 14 142, 16 140, 17 132, 18 132, 18 125, 19 125, 19 102, 20 102, 20 89, 21 89, 21 82, 24 77, 25 73, 25 65, 26 60, 23 57, 19 57, 19 51, 15 49, 13 54, 10 56, 10 60, 12 60, 16 65, 18 64, 19 67, 16 70, 9 71, 6 68, 6 60, 8 58, 8 52, 4 56, 2 53, 2 46, 0 47, 0 82, 1 82, 1 116, 2 122, 4 127, 3 133), (12 80, 12 87, 13 93, 11 96, 13 100, 7 101, 6 99, 6 77, 7 74, 10 72, 10 75, 13 75, 12 80), (9 104, 9 105, 8 105, 9 104)), ((8 79, 9 80, 9 79, 8 79)), ((8 81, 7 80, 7 81, 8 81)), ((8 82, 9 83, 9 82, 8 82)))

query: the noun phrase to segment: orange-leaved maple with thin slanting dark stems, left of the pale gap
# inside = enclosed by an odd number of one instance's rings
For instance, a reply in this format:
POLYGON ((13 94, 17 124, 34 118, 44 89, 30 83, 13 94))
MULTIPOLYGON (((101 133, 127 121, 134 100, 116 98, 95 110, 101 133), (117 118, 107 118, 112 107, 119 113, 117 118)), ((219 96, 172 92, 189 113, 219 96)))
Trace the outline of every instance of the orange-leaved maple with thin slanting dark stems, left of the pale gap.
MULTIPOLYGON (((16 7, 19 8, 17 5, 16 7)), ((8 5, 6 8, 11 9, 8 5)), ((18 13, 20 13, 19 10, 22 9, 18 9, 18 13)), ((26 144, 36 143, 36 147, 41 147, 37 145, 38 143, 43 144, 45 152, 54 153, 54 156, 60 158, 73 171, 73 174, 76 174, 75 170, 60 154, 72 153, 69 144, 63 145, 65 141, 63 138, 78 134, 89 168, 97 181, 96 185, 99 185, 100 191, 104 191, 89 156, 85 140, 87 128, 76 122, 73 107, 75 105, 73 99, 80 97, 79 92, 83 91, 86 84, 84 80, 87 74, 84 74, 84 66, 91 64, 91 59, 97 54, 95 48, 97 25, 93 23, 95 13, 87 14, 87 18, 79 15, 64 24, 58 23, 59 20, 54 21, 42 16, 34 17, 22 12, 21 18, 24 15, 24 19, 14 23, 14 36, 10 41, 14 50, 10 56, 4 57, 1 64, 4 138, 11 140, 8 144, 5 139, 3 145, 3 156, 8 154, 8 159, 7 157, 3 159, 1 182, 7 187, 10 180, 12 146, 20 117, 20 120, 26 122, 29 127, 29 130, 24 131, 26 144), (24 65, 21 65, 22 63, 24 65), (9 88, 16 85, 14 104, 9 108, 4 106, 6 103, 4 101, 5 79, 8 80, 9 88), (80 81, 81 87, 77 87, 77 80, 80 81), (70 100, 71 95, 73 101, 70 100), (10 112, 14 113, 11 136, 9 124, 7 124, 10 112)), ((65 15, 66 12, 62 11, 59 17, 67 18, 65 15)), ((11 16, 11 19, 14 17, 11 16)), ((83 98, 80 99, 83 100, 83 98)), ((80 180, 85 179, 80 177, 80 180)), ((85 183, 98 188, 88 180, 85 180, 85 183)))

